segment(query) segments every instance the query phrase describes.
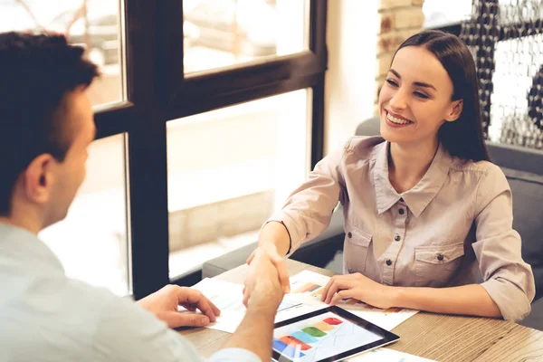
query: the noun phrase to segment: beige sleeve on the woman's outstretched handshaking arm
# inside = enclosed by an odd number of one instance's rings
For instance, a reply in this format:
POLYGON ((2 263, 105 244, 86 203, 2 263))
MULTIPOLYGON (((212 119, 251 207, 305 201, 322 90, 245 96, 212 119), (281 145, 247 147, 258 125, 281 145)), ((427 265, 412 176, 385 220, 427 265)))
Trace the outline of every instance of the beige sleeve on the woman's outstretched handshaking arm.
POLYGON ((281 222, 291 237, 291 251, 295 252, 301 243, 311 240, 324 232, 330 224, 332 213, 338 205, 340 195, 340 163, 350 140, 322 158, 310 172, 308 181, 294 190, 280 212, 266 221, 281 222))

